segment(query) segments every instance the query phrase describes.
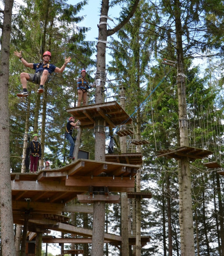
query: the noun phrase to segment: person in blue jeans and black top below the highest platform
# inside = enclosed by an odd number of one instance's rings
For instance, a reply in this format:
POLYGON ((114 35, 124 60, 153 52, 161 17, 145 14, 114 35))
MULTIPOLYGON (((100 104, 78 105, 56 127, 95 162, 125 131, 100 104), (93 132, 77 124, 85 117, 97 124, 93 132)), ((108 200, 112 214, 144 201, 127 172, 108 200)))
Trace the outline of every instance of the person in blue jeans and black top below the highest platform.
POLYGON ((74 129, 79 129, 79 126, 77 126, 78 122, 79 122, 79 120, 77 120, 77 122, 75 122, 75 118, 72 116, 69 118, 67 125, 66 125, 65 138, 70 143, 69 159, 75 159, 75 157, 73 156, 75 143, 74 143, 74 138, 72 137, 72 132, 74 129))

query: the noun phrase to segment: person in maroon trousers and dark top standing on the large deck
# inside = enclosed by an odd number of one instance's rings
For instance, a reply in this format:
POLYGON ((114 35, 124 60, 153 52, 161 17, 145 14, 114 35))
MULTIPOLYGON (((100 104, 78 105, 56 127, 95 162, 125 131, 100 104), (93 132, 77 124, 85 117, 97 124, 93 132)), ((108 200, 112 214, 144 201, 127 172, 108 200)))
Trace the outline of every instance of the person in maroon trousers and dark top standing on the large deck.
POLYGON ((29 144, 30 172, 36 173, 38 160, 41 159, 41 145, 38 141, 38 135, 33 134, 33 140, 29 144))

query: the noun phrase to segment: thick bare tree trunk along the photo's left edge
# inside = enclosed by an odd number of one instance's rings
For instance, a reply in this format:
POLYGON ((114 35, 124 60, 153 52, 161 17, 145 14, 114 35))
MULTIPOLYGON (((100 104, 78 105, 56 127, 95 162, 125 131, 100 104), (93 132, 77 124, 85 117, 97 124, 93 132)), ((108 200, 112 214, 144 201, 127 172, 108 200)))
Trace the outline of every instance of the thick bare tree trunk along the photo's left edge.
POLYGON ((10 58, 10 33, 13 0, 5 1, 1 35, 0 57, 0 202, 1 202, 1 245, 4 256, 15 255, 15 240, 12 216, 12 188, 10 177, 10 124, 8 111, 8 82, 10 58))

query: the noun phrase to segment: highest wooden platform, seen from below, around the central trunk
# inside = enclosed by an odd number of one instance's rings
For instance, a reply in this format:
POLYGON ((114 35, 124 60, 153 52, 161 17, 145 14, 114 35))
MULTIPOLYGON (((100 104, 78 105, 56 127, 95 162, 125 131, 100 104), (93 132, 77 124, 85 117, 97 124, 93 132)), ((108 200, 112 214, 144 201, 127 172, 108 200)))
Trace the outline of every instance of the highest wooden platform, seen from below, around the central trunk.
POLYGON ((104 118, 106 126, 113 128, 116 125, 132 123, 130 116, 116 101, 67 108, 66 110, 81 122, 83 128, 92 129, 95 125, 95 118, 99 116, 104 118))

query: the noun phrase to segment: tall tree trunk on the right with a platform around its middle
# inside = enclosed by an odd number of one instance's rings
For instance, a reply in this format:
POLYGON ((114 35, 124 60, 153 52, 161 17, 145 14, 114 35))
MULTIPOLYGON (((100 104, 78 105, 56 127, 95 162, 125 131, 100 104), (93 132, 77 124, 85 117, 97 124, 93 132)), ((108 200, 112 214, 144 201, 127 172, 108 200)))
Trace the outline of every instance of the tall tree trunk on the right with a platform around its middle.
MULTIPOLYGON (((182 49, 182 24, 180 1, 175 0, 175 28, 177 48, 177 90, 179 104, 180 147, 188 146, 188 116, 186 108, 186 76, 184 75, 184 56, 182 49)), ((188 157, 182 157, 179 168, 180 196, 180 243, 181 255, 195 255, 193 213, 191 199, 191 172, 188 157), (182 202, 181 202, 182 200, 182 202)))

